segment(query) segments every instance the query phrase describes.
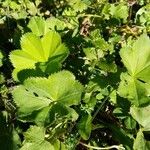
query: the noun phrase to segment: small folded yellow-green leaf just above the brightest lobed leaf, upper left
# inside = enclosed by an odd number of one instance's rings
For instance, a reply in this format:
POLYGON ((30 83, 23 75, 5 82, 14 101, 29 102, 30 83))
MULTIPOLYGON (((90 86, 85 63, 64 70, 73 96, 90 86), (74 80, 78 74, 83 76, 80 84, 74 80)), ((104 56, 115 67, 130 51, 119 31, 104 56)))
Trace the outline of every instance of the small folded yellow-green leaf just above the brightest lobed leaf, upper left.
POLYGON ((47 22, 41 17, 32 17, 29 21, 28 28, 37 35, 45 35, 49 31, 49 26, 47 22))

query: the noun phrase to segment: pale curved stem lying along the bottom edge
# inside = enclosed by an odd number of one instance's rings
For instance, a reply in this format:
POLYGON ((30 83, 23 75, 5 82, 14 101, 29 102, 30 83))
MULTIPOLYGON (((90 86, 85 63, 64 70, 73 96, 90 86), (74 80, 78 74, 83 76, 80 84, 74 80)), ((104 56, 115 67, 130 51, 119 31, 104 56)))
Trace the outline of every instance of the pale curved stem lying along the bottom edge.
POLYGON ((97 150, 108 150, 108 149, 118 149, 118 150, 125 150, 125 148, 122 145, 113 145, 109 147, 95 147, 95 146, 90 146, 85 143, 80 142, 81 145, 87 147, 87 148, 92 148, 92 149, 97 149, 97 150))

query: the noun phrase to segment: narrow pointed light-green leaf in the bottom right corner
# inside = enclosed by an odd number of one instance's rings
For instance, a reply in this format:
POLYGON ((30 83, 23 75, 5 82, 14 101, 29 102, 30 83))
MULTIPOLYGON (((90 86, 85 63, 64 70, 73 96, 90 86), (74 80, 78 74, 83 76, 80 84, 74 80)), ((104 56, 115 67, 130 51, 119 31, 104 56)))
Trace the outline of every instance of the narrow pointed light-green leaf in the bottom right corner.
POLYGON ((134 150, 148 150, 146 149, 146 141, 144 139, 144 134, 141 130, 137 133, 136 139, 133 145, 134 150))

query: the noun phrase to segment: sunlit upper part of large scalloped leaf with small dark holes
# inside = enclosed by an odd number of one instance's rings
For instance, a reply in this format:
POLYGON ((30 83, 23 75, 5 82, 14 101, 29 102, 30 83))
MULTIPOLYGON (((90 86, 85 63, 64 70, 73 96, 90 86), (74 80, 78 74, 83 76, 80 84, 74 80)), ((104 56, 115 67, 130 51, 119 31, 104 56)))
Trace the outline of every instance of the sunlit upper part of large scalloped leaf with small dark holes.
MULTIPOLYGON (((65 106, 78 105, 82 91, 82 85, 75 80, 73 74, 61 71, 48 79, 37 77, 25 80, 23 85, 14 89, 13 98, 18 106, 18 117, 24 120, 26 116, 45 109, 52 102, 65 106)), ((47 109, 45 113, 42 116, 47 116, 47 109)))

